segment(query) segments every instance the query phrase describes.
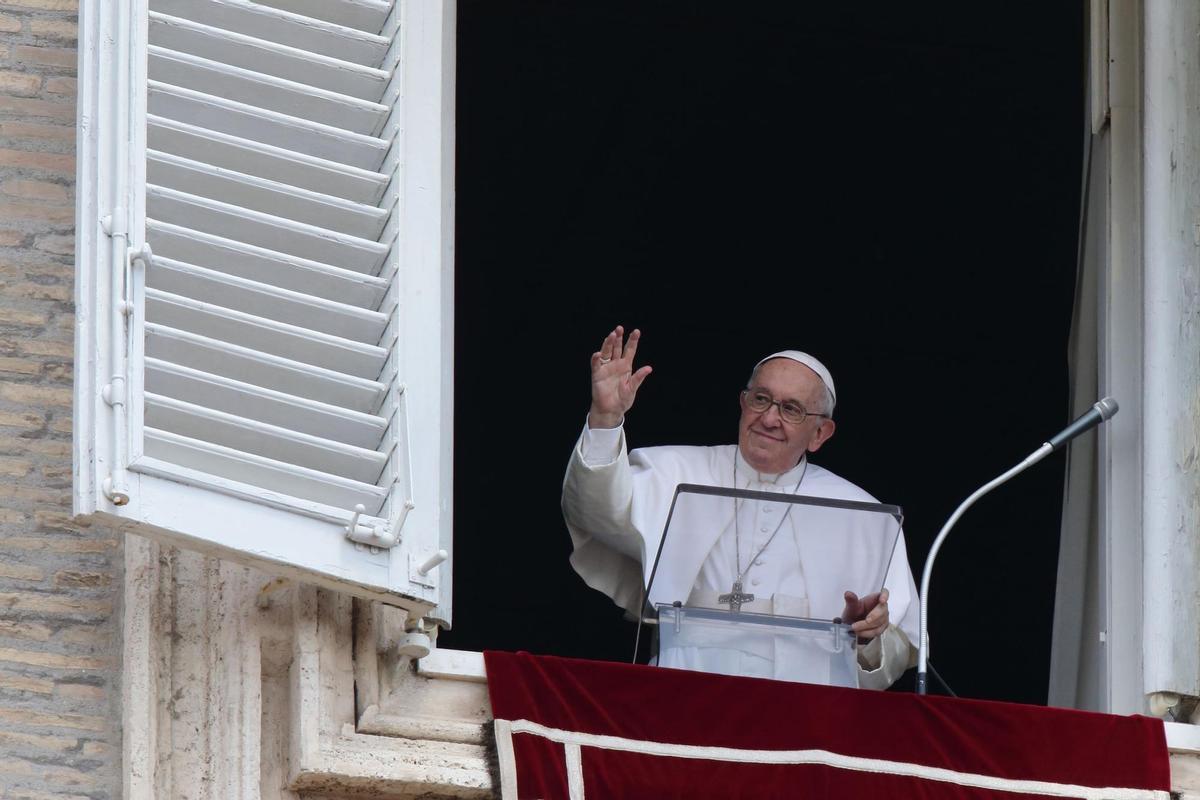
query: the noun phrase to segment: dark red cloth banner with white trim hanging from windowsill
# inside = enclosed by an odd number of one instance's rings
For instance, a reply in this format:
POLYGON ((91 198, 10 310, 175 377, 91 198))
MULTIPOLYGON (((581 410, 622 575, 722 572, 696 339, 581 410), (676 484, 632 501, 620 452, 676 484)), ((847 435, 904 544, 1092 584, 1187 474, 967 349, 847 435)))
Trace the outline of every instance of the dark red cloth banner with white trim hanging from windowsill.
POLYGON ((487 652, 504 800, 1168 800, 1163 724, 487 652))

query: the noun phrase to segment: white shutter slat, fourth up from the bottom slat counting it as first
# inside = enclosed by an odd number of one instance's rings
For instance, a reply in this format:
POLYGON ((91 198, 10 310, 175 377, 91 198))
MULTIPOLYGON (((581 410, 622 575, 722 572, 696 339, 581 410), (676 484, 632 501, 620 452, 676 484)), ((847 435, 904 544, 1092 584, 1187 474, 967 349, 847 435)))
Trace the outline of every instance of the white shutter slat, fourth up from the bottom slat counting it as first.
POLYGON ((158 323, 146 323, 145 353, 199 372, 232 378, 286 395, 374 414, 386 387, 355 375, 221 342, 158 323))

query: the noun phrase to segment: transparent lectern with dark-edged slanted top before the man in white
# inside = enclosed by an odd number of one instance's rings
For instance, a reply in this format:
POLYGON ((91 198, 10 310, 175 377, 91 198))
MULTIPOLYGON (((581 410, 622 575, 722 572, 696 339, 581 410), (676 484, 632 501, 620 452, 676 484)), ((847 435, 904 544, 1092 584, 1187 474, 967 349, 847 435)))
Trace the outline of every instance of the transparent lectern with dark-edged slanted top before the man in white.
POLYGON ((845 593, 883 588, 899 506, 682 483, 646 576, 660 667, 858 686, 845 593))

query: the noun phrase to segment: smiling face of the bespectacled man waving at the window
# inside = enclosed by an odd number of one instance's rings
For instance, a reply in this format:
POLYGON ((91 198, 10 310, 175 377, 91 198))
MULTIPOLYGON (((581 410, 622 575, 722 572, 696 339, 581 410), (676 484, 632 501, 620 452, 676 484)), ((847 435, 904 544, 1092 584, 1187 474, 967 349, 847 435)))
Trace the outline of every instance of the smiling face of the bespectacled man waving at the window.
MULTIPOLYGON (((824 384, 803 363, 791 359, 772 359, 758 367, 751 390, 770 395, 779 402, 794 401, 810 411, 824 411, 824 384)), ((779 415, 779 407, 754 411, 742 403, 738 422, 738 447, 746 463, 760 473, 786 473, 805 452, 816 452, 833 435, 833 420, 809 415, 792 425, 779 415)))

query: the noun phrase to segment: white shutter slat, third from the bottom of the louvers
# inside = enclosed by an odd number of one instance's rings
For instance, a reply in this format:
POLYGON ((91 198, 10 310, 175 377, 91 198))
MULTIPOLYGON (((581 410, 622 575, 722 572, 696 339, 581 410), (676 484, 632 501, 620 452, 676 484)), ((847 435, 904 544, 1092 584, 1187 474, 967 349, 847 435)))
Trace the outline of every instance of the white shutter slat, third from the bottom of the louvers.
POLYGON ((374 414, 360 414, 154 357, 145 360, 145 389, 358 447, 377 449, 388 429, 388 420, 374 414))

